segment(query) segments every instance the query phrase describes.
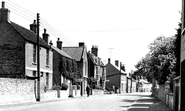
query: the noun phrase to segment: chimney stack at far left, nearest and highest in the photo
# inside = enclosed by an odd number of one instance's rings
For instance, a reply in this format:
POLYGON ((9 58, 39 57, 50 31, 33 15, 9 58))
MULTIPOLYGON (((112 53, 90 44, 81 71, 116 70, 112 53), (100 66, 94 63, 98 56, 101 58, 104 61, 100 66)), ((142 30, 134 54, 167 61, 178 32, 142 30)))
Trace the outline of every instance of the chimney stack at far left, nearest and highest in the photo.
POLYGON ((10 11, 5 8, 5 2, 2 1, 2 8, 0 9, 0 22, 9 22, 10 11))

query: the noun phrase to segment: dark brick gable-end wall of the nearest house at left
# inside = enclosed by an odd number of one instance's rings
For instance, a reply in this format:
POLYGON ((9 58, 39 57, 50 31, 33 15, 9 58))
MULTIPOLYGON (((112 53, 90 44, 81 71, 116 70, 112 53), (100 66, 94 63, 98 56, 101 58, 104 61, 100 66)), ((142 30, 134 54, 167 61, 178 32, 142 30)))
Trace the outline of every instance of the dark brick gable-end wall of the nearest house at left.
POLYGON ((0 23, 0 74, 23 75, 24 40, 7 23, 0 23))

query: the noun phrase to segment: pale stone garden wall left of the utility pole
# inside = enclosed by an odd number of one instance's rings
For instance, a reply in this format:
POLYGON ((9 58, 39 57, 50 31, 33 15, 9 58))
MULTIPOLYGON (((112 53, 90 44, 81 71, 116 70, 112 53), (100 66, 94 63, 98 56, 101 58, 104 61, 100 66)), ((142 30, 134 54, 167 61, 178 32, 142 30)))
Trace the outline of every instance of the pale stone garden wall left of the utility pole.
POLYGON ((34 80, 0 78, 0 87, 0 104, 35 101, 34 80))

